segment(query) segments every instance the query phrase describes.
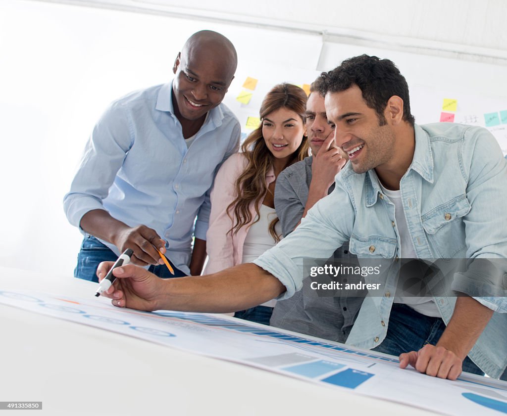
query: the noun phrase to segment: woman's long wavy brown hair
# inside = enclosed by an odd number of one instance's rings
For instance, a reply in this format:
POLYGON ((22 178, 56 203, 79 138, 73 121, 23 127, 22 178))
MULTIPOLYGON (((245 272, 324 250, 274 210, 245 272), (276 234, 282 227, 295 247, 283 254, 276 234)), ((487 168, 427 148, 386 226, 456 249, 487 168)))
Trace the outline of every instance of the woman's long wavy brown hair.
MULTIPOLYGON (((266 192, 270 192, 266 186, 266 174, 273 166, 275 157, 271 154, 264 141, 262 121, 273 111, 287 108, 296 112, 304 124, 306 123, 306 99, 306 93, 301 88, 287 83, 275 85, 264 97, 260 109, 261 124, 250 133, 241 146, 241 152, 248 163, 236 181, 235 191, 237 197, 227 207, 227 214, 233 222, 229 233, 236 234, 242 226, 245 226, 252 220, 252 214, 248 209, 252 202, 257 213, 257 219, 252 224, 259 221, 259 210, 262 200, 266 192)), ((308 156, 308 148, 307 137, 303 136, 300 146, 291 155, 284 168, 306 158, 308 156)), ((269 234, 278 242, 280 241, 280 236, 275 232, 276 222, 278 222, 278 218, 275 218, 269 224, 269 234)))

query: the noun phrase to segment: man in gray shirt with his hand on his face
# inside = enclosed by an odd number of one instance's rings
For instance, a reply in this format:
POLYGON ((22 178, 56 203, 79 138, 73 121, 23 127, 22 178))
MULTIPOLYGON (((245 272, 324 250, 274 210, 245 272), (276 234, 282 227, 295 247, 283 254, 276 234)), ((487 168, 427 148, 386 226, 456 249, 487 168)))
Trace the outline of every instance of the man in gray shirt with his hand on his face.
MULTIPOLYGON (((318 93, 319 77, 310 86, 306 104, 306 131, 312 155, 283 170, 276 180, 275 208, 283 237, 292 233, 307 211, 335 187, 335 176, 348 158, 334 142, 334 129, 325 115, 324 97, 318 93)), ((356 258, 345 243, 334 253, 337 261, 356 258)), ((351 275, 344 283, 355 283, 351 275)), ((363 303, 365 290, 342 290, 339 296, 323 296, 310 287, 311 278, 303 281, 303 289, 293 297, 279 300, 270 325, 345 343, 363 303)))

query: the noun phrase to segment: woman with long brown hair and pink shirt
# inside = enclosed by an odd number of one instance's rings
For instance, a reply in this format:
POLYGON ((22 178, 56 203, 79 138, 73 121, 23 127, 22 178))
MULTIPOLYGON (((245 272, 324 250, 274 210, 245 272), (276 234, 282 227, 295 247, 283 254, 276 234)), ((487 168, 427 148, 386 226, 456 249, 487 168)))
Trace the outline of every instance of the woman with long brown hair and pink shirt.
MULTIPOLYGON (((264 98, 261 125, 220 168, 211 192, 204 274, 255 260, 281 236, 274 209, 275 181, 287 166, 308 156, 306 93, 292 84, 264 98)), ((235 316, 269 324, 274 301, 235 316), (271 305, 270 305, 271 304, 271 305)))

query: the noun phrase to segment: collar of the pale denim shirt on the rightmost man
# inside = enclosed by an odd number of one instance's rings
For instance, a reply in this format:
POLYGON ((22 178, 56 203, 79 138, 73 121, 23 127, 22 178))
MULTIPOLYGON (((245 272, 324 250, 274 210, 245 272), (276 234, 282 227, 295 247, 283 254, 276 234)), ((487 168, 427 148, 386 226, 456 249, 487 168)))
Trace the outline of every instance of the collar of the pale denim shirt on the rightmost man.
MULTIPOLYGON (((415 150, 414 158, 410 164, 407 173, 410 170, 417 172, 423 179, 433 183, 433 154, 431 152, 431 144, 427 133, 414 125, 415 131, 415 150)), ((371 207, 377 202, 377 196, 382 193, 379 179, 374 169, 367 172, 365 177, 366 206, 371 207)))

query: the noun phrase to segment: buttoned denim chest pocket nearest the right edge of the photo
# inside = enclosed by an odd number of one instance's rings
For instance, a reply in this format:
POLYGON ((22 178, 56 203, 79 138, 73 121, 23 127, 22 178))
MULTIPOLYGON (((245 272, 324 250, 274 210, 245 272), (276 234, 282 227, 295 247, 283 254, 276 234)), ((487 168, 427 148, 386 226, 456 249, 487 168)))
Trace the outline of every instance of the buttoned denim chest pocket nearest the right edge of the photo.
POLYGON ((463 194, 422 215, 428 242, 439 258, 453 258, 466 247, 463 216, 471 208, 463 194))

